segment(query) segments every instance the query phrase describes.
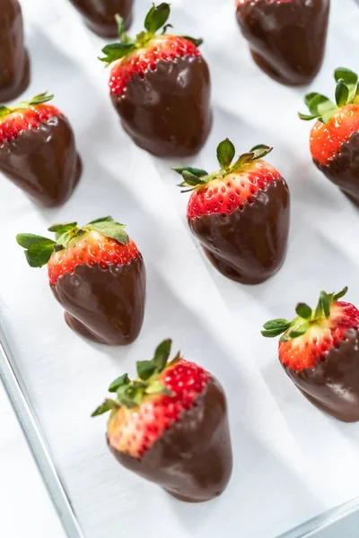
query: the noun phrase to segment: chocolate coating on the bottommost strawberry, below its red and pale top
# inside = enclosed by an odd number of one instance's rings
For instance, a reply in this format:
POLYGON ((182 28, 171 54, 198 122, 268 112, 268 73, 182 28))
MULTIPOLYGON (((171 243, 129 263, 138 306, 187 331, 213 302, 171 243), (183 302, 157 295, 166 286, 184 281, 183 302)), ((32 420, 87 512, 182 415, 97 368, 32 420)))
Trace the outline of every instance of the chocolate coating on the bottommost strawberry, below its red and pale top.
POLYGON ((195 404, 141 459, 109 445, 118 462, 176 499, 203 502, 223 493, 232 474, 232 446, 222 386, 211 378, 195 404))

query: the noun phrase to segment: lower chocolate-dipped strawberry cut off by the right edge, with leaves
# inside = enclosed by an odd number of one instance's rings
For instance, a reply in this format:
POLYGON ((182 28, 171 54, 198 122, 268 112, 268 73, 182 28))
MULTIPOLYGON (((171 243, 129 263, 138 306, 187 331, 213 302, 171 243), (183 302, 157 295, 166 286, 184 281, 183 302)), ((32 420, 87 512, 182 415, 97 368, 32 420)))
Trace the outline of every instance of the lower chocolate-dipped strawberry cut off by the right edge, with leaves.
POLYGON ((264 325, 269 338, 283 334, 279 360, 302 394, 339 421, 359 421, 359 310, 339 293, 320 293, 317 308, 299 303, 293 321, 264 325))

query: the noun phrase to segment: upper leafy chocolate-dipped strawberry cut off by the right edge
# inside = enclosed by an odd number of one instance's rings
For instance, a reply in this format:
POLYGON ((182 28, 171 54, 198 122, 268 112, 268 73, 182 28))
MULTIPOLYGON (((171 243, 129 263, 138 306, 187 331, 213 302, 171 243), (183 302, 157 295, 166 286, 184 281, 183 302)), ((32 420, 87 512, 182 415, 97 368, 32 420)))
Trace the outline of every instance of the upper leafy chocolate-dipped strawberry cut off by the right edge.
POLYGON ((337 187, 359 204, 359 86, 358 76, 346 67, 335 71, 336 104, 320 93, 309 93, 305 103, 318 119, 311 129, 314 164, 337 187))

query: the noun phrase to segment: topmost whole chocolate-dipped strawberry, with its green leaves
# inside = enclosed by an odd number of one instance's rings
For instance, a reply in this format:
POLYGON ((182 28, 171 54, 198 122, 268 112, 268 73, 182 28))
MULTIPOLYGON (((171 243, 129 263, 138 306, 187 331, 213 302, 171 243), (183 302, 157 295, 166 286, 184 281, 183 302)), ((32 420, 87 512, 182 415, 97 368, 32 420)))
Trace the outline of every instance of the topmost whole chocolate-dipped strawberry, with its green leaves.
POLYGON ((119 21, 120 42, 103 48, 100 59, 111 67, 109 93, 127 134, 153 155, 180 157, 206 142, 210 78, 200 39, 165 34, 169 15, 169 4, 153 5, 136 39, 119 21))

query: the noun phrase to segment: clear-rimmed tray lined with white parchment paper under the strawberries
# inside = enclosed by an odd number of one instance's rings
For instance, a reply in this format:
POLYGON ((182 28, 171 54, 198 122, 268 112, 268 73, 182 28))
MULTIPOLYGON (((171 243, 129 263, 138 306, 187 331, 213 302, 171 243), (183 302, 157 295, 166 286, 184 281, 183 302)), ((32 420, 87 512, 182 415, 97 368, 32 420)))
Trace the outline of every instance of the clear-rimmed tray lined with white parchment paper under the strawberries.
MULTIPOLYGON (((149 5, 137 0, 134 32, 149 5)), ((285 265, 256 287, 216 273, 192 238, 188 195, 180 195, 170 170, 185 161, 151 157, 118 125, 108 74, 97 60, 103 41, 66 0, 24 0, 22 6, 32 60, 27 95, 56 93, 54 103, 74 126, 84 169, 74 195, 56 210, 40 210, 8 181, 0 182, 0 370, 67 534, 296 538, 355 510, 359 426, 312 407, 285 377, 276 343, 259 334, 264 321, 291 317, 299 299, 313 304, 321 289, 347 284, 348 298, 359 303, 358 212, 311 163, 311 127, 296 117, 304 92, 333 91, 337 65, 359 68, 355 1, 332 0, 327 56, 310 89, 280 86, 258 70, 236 27, 232 0, 172 2, 176 31, 205 39, 213 82, 213 130, 190 162, 215 169, 215 147, 225 136, 239 152, 269 143, 275 151, 268 160, 291 189, 285 265), (14 240, 22 231, 44 234, 54 221, 105 214, 127 222, 147 269, 144 328, 127 348, 73 334, 46 270, 31 270, 14 240), (167 336, 186 358, 220 378, 228 396, 232 481, 220 499, 197 506, 122 469, 106 447, 106 420, 90 418, 112 378, 134 373, 135 360, 149 357, 167 336)))

